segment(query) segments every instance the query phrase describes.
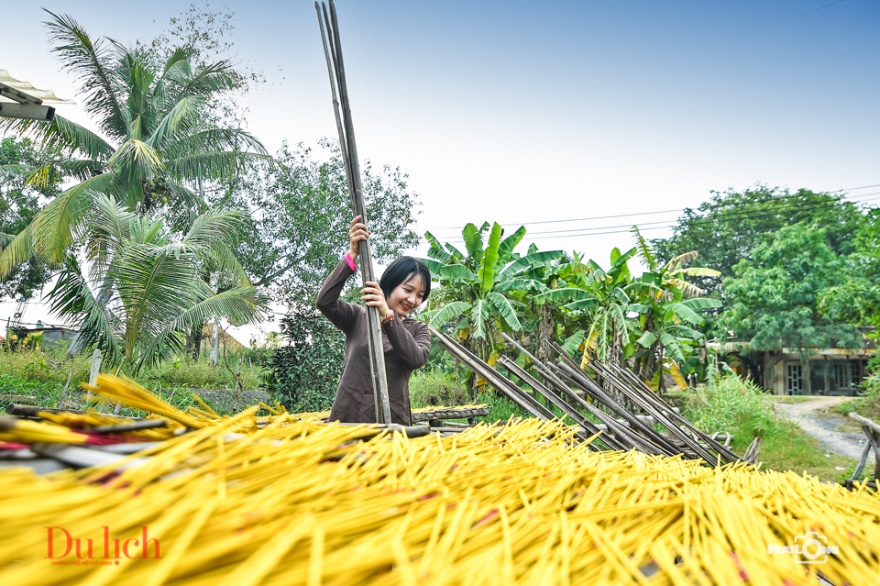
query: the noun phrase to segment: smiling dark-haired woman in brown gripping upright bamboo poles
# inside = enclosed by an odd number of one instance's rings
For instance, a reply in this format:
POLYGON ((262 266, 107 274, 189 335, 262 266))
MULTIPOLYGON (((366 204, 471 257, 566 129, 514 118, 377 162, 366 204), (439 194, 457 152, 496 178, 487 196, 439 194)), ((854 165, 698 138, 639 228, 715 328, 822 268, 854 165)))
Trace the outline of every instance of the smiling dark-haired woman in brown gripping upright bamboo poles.
MULTIPOLYGON (((318 309, 345 333, 345 363, 330 412, 331 421, 375 422, 375 397, 367 342, 367 311, 339 299, 345 282, 357 267, 359 243, 369 238, 366 225, 356 217, 349 228, 349 252, 330 273, 318 294, 318 309)), ((362 289, 364 304, 379 311, 385 374, 391 402, 391 421, 411 425, 409 379, 424 366, 431 349, 428 326, 409 317, 428 298, 431 273, 417 259, 401 257, 392 262, 379 283, 369 281, 362 289)))

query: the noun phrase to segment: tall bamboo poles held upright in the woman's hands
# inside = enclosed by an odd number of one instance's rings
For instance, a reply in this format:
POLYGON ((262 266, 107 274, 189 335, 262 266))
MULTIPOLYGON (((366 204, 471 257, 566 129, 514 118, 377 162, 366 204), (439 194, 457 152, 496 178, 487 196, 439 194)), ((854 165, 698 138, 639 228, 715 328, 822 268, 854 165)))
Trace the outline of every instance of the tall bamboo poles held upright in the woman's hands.
MULTIPOLYGON (((318 13, 318 24, 321 27, 321 41, 324 44, 324 56, 327 59, 327 70, 330 75, 330 90, 333 95, 333 112, 336 115, 336 129, 339 132, 339 147, 345 164, 348 179, 348 193, 351 197, 352 211, 360 216, 364 224, 368 223, 364 206, 363 185, 358 166, 357 144, 354 140, 354 124, 351 120, 351 105, 348 100, 348 86, 345 82, 345 65, 342 60, 342 44, 339 40, 339 22, 336 17, 336 6, 330 0, 330 14, 327 5, 315 2, 318 13), (322 10, 323 7, 323 10, 322 10), (337 100, 336 86, 339 87, 337 100), (341 109, 341 115, 340 115, 341 109)), ((363 282, 375 281, 373 257, 370 252, 369 240, 359 246, 359 259, 363 282)), ((388 397, 388 381, 385 377, 385 355, 382 346, 382 325, 379 323, 379 310, 367 307, 367 327, 370 350, 370 374, 373 382, 373 396, 376 405, 376 422, 391 423, 391 402, 388 397)))

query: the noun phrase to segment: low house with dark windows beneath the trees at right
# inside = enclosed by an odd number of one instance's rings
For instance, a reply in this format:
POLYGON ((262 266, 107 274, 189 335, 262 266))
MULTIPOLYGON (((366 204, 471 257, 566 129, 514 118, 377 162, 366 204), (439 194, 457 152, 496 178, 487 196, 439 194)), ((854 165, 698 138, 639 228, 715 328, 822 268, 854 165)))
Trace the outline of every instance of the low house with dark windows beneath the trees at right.
POLYGON ((746 342, 716 346, 722 360, 776 395, 856 395, 865 379, 868 360, 877 354, 866 348, 816 348, 805 353, 792 348, 751 350, 746 342))

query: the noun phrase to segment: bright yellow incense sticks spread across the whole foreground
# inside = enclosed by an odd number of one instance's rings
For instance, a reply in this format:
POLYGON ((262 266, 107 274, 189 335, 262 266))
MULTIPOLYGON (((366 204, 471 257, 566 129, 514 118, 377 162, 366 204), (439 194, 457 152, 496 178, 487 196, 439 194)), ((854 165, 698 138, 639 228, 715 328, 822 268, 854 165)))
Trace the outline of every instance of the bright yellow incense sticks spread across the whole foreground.
MULTIPOLYGON (((127 384, 102 377, 98 391, 115 401, 127 384)), ((880 499, 864 487, 594 451, 558 420, 357 441, 364 427, 256 412, 103 467, 0 472, 0 580, 876 582, 880 499), (806 540, 833 553, 786 549, 806 540)))

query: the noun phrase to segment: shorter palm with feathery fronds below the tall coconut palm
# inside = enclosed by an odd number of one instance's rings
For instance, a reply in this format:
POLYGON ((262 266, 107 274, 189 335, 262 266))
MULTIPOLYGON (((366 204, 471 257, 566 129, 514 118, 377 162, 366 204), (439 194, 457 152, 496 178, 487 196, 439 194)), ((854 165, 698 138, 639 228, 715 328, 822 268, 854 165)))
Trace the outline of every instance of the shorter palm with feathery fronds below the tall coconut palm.
POLYGON ((137 371, 182 350, 182 334, 194 324, 218 315, 235 325, 261 317, 257 290, 230 249, 240 214, 205 212, 176 240, 162 220, 149 220, 106 196, 94 203, 86 246, 90 278, 68 255, 50 294, 52 310, 81 325, 84 347, 97 347, 105 360, 137 371), (206 262, 237 282, 216 293, 200 278, 206 262))

